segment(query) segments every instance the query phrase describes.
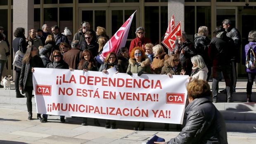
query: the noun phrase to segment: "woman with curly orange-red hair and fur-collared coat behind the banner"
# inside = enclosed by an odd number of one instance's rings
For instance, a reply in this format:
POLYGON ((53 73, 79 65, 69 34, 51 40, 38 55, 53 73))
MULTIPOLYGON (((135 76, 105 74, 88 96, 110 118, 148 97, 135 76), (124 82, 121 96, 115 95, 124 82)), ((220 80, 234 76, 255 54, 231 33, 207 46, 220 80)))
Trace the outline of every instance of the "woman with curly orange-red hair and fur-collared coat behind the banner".
MULTIPOLYGON (((151 61, 142 50, 142 47, 134 47, 130 53, 127 74, 132 76, 133 73, 137 73, 140 76, 143 73, 151 73, 150 63, 151 61)), ((137 122, 133 130, 144 130, 144 126, 144 122, 137 122)))

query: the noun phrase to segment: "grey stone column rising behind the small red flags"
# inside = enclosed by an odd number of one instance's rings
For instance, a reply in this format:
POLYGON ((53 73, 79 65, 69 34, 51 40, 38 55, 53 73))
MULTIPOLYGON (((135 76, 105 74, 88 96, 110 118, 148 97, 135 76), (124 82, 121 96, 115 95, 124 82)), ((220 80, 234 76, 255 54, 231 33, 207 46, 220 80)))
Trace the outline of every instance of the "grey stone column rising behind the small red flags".
POLYGON ((184 31, 185 25, 185 0, 168 0, 168 24, 174 14, 175 25, 181 22, 181 30, 184 31))

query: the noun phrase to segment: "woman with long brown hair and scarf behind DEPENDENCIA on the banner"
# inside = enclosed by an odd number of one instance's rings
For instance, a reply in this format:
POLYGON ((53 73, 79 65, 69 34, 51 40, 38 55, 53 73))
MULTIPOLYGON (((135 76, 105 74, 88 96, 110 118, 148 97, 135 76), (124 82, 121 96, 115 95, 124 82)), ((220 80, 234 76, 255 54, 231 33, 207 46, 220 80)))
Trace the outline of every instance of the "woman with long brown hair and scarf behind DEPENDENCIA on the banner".
MULTIPOLYGON (((92 57, 92 53, 90 52, 90 50, 83 50, 81 60, 78 64, 78 70, 98 71, 98 68, 95 66, 95 61, 92 57)), ((87 125, 87 118, 83 118, 83 122, 81 125, 87 125)), ((94 118, 94 125, 100 126, 99 120, 97 118, 94 118)))

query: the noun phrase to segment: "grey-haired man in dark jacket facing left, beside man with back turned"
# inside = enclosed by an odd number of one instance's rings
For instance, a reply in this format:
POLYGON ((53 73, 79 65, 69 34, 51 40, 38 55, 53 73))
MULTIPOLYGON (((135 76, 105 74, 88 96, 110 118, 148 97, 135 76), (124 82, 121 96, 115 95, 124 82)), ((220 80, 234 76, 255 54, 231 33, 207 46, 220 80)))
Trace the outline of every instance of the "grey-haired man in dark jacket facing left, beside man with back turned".
MULTIPOLYGON (((232 38, 235 44, 232 49, 232 51, 234 51, 235 53, 234 53, 234 56, 231 58, 231 71, 230 71, 231 83, 233 86, 232 91, 235 92, 235 87, 237 85, 237 62, 240 62, 239 48, 241 46, 241 35, 240 35, 240 32, 231 25, 231 21, 229 19, 224 19, 222 21, 222 24, 223 24, 223 28, 225 28, 225 31, 227 32, 227 36, 232 38)), ((225 93, 226 90, 224 89, 220 92, 225 93)))

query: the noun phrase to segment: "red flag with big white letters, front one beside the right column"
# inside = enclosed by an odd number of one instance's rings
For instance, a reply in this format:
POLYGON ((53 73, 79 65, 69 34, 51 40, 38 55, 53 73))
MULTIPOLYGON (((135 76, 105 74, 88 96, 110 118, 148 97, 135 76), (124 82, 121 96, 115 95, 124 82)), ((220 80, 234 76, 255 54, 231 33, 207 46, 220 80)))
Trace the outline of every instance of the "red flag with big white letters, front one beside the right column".
POLYGON ((164 40, 162 41, 162 44, 164 44, 164 46, 166 46, 170 50, 170 52, 172 52, 175 47, 175 40, 177 36, 180 36, 180 35, 181 35, 181 24, 179 22, 178 25, 171 31, 171 33, 169 33, 166 36, 166 38, 164 38, 164 40))

